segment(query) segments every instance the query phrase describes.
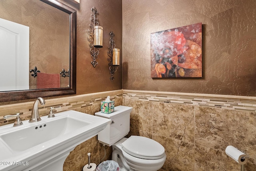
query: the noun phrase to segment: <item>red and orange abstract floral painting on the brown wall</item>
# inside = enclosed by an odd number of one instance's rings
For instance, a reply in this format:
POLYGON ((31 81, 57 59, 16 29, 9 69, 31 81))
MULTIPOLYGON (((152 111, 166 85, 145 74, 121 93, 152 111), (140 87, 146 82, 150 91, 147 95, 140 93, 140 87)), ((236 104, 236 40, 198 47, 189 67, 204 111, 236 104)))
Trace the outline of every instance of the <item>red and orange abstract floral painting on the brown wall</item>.
POLYGON ((151 78, 202 77, 202 23, 151 33, 151 78))

